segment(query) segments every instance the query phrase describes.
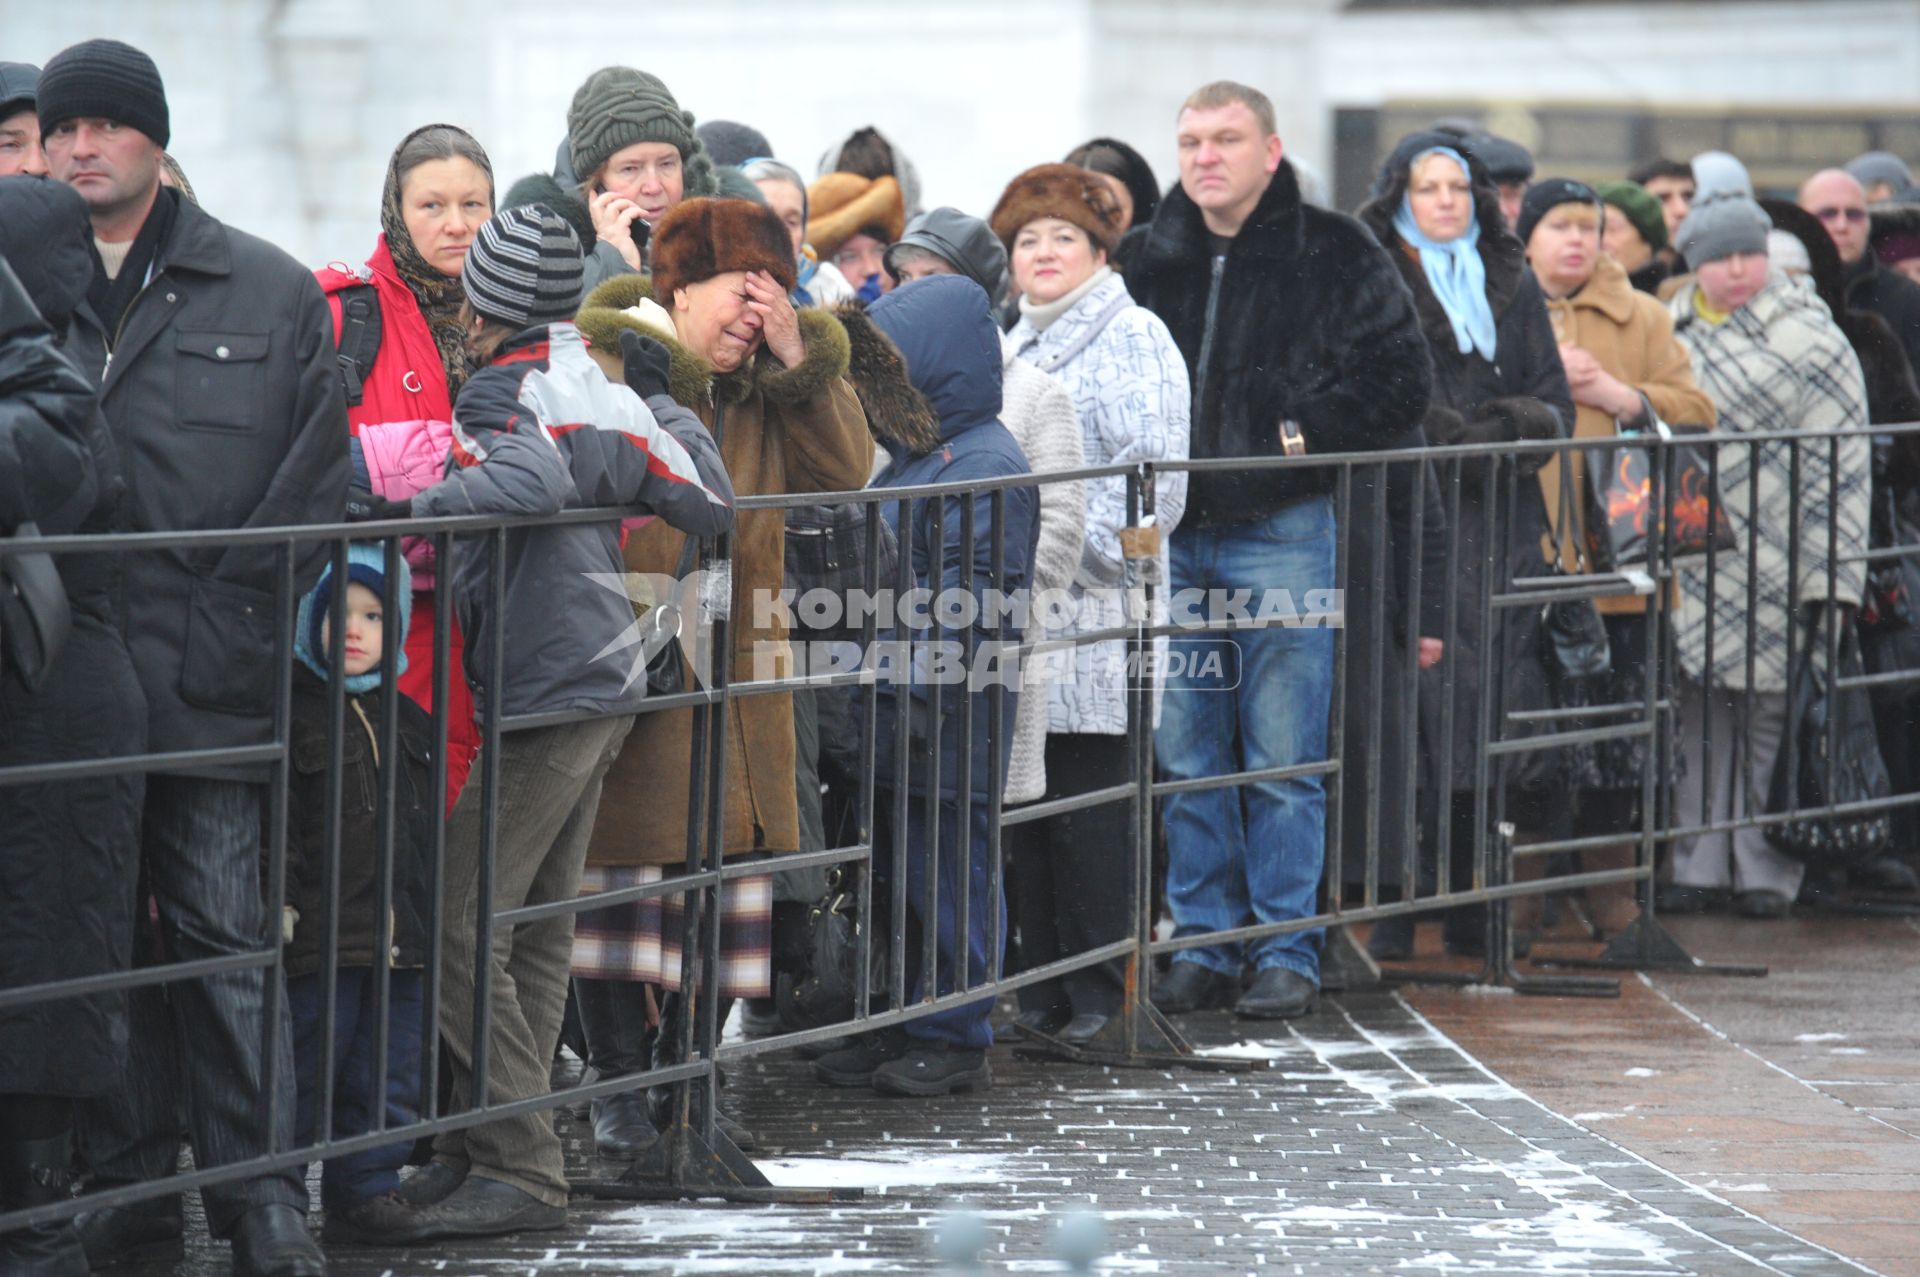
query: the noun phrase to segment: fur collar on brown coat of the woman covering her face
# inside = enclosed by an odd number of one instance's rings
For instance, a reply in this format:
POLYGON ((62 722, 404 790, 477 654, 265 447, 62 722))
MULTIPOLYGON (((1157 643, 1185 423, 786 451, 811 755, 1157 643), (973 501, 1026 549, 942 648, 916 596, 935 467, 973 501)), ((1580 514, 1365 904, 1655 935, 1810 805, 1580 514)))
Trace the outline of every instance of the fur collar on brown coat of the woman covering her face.
POLYGON ((712 365, 678 338, 670 338, 626 313, 641 300, 653 300, 653 280, 645 275, 616 275, 588 294, 574 323, 589 344, 603 351, 614 351, 614 359, 618 359, 620 349, 620 328, 645 332, 666 346, 672 355, 668 388, 674 401, 684 407, 741 403, 755 392, 776 403, 799 403, 847 374, 847 332, 839 321, 822 311, 801 311, 801 340, 806 342, 806 359, 797 369, 783 369, 778 359, 760 349, 753 363, 733 373, 714 373, 712 365))

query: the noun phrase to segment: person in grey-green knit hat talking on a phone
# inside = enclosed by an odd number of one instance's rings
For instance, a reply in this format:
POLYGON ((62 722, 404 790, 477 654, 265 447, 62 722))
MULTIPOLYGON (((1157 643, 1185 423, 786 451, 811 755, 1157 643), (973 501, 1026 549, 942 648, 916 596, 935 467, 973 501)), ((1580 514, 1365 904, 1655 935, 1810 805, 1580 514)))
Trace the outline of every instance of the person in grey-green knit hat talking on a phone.
POLYGON ((601 67, 566 108, 566 157, 599 242, 588 290, 647 269, 647 238, 682 200, 720 190, 707 146, 664 81, 634 67, 601 67), (636 227, 637 223, 637 227, 636 227))

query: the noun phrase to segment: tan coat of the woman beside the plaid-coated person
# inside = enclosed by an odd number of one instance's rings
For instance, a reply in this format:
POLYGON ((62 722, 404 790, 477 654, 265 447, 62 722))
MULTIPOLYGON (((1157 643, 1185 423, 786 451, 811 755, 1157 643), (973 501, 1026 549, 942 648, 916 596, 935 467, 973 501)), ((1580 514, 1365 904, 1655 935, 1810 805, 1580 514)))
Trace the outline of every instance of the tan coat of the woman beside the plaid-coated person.
MULTIPOLYGON (((1626 382, 1647 398, 1653 411, 1668 426, 1697 426, 1711 430, 1715 422, 1713 399, 1693 382, 1693 365, 1686 346, 1674 336, 1672 315, 1667 307, 1644 292, 1636 292, 1626 280, 1626 271, 1613 257, 1601 255, 1594 269, 1594 278, 1571 298, 1548 298, 1548 315, 1561 342, 1582 348, 1599 361, 1607 373, 1626 382)), ((1613 417, 1586 403, 1574 405, 1576 440, 1611 438, 1617 434, 1613 417)), ((1586 484, 1588 453, 1576 451, 1569 457, 1574 482, 1586 484)), ((1559 526, 1559 476, 1561 461, 1553 459, 1540 470, 1540 494, 1548 503, 1548 518, 1559 526)), ((1574 488, 1580 497, 1582 488, 1574 488)), ((1572 501, 1574 534, 1563 538, 1565 566, 1578 570, 1574 547, 1586 543, 1586 503, 1572 501)), ((1603 613, 1644 613, 1647 599, 1642 595, 1622 595, 1597 599, 1603 613)))

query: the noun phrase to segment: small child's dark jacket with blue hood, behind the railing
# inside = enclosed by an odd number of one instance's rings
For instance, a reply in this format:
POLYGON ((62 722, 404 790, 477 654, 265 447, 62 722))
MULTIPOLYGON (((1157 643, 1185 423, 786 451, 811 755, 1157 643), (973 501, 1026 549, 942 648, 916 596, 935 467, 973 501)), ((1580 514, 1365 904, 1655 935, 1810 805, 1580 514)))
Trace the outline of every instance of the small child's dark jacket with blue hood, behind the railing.
MULTIPOLYGON (((386 572, 386 551, 374 542, 348 545, 349 580, 353 568, 386 572)), ((399 588, 394 591, 399 614, 384 632, 396 639, 407 632, 413 590, 401 561, 399 588)), ((313 976, 326 958, 326 801, 332 772, 328 722, 332 699, 326 686, 328 655, 315 649, 317 616, 324 618, 332 601, 332 565, 301 601, 294 624, 294 712, 292 774, 286 808, 286 903, 300 914, 294 939, 286 945, 286 974, 313 976)), ((396 653, 405 668, 405 653, 396 653)), ((384 760, 384 695, 378 670, 371 684, 363 674, 346 689, 340 735, 340 895, 334 914, 338 928, 336 966, 372 966, 380 916, 380 793, 384 760)), ((388 951, 392 966, 426 966, 428 920, 432 918, 428 837, 432 831, 432 739, 426 711, 403 695, 394 697, 397 724, 394 760, 394 895, 388 951)))

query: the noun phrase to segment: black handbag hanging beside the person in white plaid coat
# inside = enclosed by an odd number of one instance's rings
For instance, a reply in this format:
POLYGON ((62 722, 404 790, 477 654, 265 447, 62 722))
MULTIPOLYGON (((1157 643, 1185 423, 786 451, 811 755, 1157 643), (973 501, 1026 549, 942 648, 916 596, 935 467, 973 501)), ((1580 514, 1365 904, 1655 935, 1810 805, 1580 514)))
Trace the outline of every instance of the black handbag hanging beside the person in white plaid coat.
MULTIPOLYGON (((1864 687, 1834 687, 1818 659, 1826 649, 1820 626, 1809 626, 1807 647, 1788 680, 1788 734, 1766 787, 1766 812, 1843 807, 1893 793, 1880 757, 1874 703, 1864 687)), ((1839 634, 1837 676, 1859 678, 1860 645, 1851 624, 1839 634)), ((1766 826, 1766 841, 1805 864, 1843 868, 1870 860, 1893 841, 1885 810, 1812 816, 1766 826)))

